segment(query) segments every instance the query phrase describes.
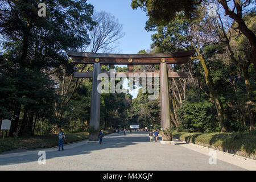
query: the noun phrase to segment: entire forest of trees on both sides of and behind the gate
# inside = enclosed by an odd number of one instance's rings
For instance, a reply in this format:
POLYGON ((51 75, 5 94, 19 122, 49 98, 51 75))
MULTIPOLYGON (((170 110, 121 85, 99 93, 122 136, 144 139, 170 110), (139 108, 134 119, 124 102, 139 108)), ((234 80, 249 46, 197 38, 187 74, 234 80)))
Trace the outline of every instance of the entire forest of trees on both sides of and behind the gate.
MULTIPOLYGON (((93 70, 74 65, 66 50, 113 52, 125 34, 118 20, 94 11, 86 0, 45 1, 47 16, 38 16, 38 0, 0 2, 0 119, 14 118, 9 135, 87 131, 92 78, 73 72, 93 70)), ((255 129, 255 3, 210 1, 217 16, 209 16, 209 1, 133 0, 148 15, 153 31, 150 50, 167 53, 195 49, 188 64, 168 65, 188 78, 170 78, 171 125, 178 131, 236 132, 255 129), (228 3, 227 3, 228 2, 228 3), (226 7, 228 6, 228 7, 226 7), (169 12, 172 12, 171 14, 169 12)), ((139 44, 139 43, 138 43, 139 44)), ((150 46, 150 45, 148 45, 150 46)), ((102 70, 127 71, 102 65, 102 70)), ((159 70, 136 65, 134 71, 159 70)), ((148 94, 101 94, 100 126, 160 128, 160 104, 148 94)))

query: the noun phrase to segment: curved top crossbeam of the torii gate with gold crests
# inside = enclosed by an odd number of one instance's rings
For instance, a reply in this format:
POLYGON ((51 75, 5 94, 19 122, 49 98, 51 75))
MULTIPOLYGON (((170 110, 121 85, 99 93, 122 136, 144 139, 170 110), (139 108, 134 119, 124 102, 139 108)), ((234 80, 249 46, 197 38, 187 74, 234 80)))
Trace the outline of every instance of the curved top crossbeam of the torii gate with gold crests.
POLYGON ((195 50, 176 53, 114 54, 67 51, 75 64, 184 64, 195 50))

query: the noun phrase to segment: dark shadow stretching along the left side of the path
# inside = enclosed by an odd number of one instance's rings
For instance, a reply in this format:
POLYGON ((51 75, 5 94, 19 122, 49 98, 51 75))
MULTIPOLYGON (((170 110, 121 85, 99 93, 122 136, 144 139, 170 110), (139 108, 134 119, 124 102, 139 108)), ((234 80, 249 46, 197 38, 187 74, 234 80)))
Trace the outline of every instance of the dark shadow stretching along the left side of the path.
MULTIPOLYGON (((133 133, 131 133, 133 134, 133 133)), ((136 133, 143 135, 146 133, 136 133)), ((75 144, 64 145, 64 151, 57 151, 57 147, 53 148, 42 148, 38 150, 26 150, 22 152, 4 152, 0 155, 0 166, 10 164, 20 164, 28 162, 36 162, 40 156, 38 151, 46 151, 46 159, 65 157, 65 156, 76 156, 82 154, 90 154, 92 151, 103 150, 105 148, 122 148, 129 145, 138 144, 138 142, 149 142, 148 137, 138 136, 126 136, 123 133, 106 135, 103 139, 102 144, 87 144, 86 141, 77 142, 75 144), (75 145, 75 147, 73 146, 75 145), (77 146, 76 146, 77 145, 77 146), (26 154, 27 153, 27 154, 26 154)))

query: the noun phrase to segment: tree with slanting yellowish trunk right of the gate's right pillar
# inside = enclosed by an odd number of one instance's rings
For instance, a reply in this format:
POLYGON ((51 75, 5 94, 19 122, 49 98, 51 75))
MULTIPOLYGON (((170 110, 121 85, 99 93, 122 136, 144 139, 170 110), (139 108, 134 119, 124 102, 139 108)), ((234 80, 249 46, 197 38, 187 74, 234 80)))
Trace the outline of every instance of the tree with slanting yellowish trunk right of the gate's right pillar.
MULTIPOLYGON (((152 40, 154 42, 152 47, 158 47, 160 52, 176 52, 184 49, 196 49, 196 57, 192 57, 192 59, 199 60, 203 67, 205 84, 209 90, 209 100, 214 102, 216 106, 221 131, 226 131, 221 101, 218 93, 216 93, 216 89, 214 89, 209 68, 205 63, 204 57, 204 46, 216 42, 216 38, 210 34, 207 28, 205 28, 209 23, 209 20, 206 19, 206 13, 203 7, 200 16, 198 15, 192 22, 186 20, 183 14, 179 14, 166 26, 159 25, 156 27, 158 33, 152 35, 152 40)), ((150 27, 150 25, 148 25, 148 27, 150 27)), ((174 101, 175 100, 172 100, 172 102, 174 101)), ((175 110, 177 106, 175 103, 173 104, 175 110)))

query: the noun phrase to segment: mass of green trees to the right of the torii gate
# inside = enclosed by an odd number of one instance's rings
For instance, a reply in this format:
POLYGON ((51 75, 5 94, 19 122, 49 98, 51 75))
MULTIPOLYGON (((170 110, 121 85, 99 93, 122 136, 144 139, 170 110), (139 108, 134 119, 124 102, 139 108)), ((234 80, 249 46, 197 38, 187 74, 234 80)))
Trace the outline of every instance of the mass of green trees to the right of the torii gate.
POLYGON ((172 125, 183 131, 255 129, 255 2, 133 0, 148 15, 151 48, 195 49, 189 64, 170 67, 189 78, 170 80, 172 125), (216 15, 209 15, 214 3, 216 15))

